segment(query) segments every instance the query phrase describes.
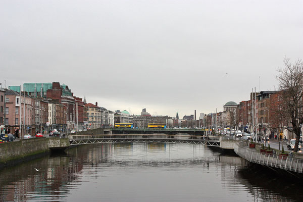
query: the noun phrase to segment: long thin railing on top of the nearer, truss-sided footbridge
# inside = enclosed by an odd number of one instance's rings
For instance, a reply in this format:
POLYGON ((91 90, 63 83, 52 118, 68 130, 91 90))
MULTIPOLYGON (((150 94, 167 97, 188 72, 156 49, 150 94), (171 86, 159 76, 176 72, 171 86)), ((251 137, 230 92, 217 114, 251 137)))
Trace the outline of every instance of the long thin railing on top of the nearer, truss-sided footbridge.
POLYGON ((97 134, 97 135, 70 135, 70 140, 87 140, 87 139, 196 139, 219 141, 218 136, 201 136, 201 135, 168 135, 168 134, 97 134))

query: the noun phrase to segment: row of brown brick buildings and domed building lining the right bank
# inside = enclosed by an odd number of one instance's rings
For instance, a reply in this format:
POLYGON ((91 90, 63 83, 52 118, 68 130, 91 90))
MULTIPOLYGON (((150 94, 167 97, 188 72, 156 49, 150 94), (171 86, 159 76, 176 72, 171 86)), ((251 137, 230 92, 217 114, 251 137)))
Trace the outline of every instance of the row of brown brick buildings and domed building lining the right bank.
POLYGON ((290 123, 277 120, 274 112, 275 105, 282 102, 280 92, 251 92, 249 100, 239 104, 228 102, 222 112, 205 115, 205 127, 218 130, 229 127, 271 137, 294 138, 295 134, 287 130, 291 127, 290 123))

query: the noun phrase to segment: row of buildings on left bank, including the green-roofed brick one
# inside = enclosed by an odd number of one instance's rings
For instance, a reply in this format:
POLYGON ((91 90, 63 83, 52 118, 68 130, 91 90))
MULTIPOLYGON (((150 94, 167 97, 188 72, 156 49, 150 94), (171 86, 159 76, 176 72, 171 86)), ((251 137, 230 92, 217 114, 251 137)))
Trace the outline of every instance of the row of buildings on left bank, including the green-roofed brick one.
POLYGON ((59 82, 24 83, 0 88, 1 133, 61 132, 85 128, 111 127, 114 112, 74 96, 69 87, 59 82))

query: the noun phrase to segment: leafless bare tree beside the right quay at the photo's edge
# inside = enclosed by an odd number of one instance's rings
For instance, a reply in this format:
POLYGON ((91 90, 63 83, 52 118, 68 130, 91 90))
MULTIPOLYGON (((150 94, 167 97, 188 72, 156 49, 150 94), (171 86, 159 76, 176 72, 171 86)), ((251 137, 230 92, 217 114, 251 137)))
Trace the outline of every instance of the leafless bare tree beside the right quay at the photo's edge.
POLYGON ((288 58, 285 58, 284 65, 284 69, 278 69, 277 75, 280 91, 276 116, 278 122, 291 124, 292 127, 287 127, 287 130, 296 135, 294 152, 297 152, 300 125, 303 123, 303 63, 301 60, 297 60, 292 64, 288 58))

